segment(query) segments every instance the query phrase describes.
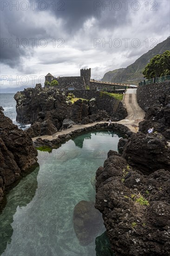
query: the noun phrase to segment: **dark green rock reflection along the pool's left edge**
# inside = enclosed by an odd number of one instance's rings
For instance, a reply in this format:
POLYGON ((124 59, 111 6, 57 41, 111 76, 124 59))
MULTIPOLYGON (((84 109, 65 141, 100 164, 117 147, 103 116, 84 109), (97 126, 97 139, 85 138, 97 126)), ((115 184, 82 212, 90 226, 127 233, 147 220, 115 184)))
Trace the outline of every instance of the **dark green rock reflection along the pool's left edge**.
POLYGON ((25 207, 33 200, 38 186, 38 172, 39 166, 7 194, 7 205, 0 215, 0 254, 6 249, 7 244, 11 243, 13 232, 19 232, 19 227, 16 226, 16 229, 13 229, 11 225, 13 216, 17 209, 25 207))

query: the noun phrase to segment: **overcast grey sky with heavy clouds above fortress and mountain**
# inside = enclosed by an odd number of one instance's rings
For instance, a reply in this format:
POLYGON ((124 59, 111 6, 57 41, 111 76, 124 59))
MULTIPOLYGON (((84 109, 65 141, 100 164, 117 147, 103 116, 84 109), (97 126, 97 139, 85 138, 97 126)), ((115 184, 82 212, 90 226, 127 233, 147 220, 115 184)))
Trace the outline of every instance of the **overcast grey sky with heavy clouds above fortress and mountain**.
POLYGON ((1 92, 44 76, 99 79, 170 35, 169 0, 1 0, 1 92), (14 81, 17 80, 17 81, 14 81))

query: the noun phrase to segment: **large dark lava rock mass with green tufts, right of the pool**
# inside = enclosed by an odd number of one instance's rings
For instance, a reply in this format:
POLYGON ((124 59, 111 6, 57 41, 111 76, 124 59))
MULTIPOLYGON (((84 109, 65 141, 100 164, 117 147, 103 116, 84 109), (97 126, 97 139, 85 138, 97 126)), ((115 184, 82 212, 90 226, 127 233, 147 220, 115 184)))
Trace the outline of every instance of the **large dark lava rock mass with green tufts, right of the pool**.
POLYGON ((96 180, 95 207, 116 255, 168 256, 170 147, 163 136, 131 135, 123 155, 108 152, 96 180))

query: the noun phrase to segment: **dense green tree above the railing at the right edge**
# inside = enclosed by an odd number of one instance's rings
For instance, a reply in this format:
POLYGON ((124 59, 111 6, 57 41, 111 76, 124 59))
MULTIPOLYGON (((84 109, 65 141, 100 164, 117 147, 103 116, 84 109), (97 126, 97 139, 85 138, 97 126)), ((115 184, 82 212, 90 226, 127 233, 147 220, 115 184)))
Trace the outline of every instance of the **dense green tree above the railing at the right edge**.
POLYGON ((143 74, 147 79, 170 75, 170 51, 154 56, 145 67, 143 74))

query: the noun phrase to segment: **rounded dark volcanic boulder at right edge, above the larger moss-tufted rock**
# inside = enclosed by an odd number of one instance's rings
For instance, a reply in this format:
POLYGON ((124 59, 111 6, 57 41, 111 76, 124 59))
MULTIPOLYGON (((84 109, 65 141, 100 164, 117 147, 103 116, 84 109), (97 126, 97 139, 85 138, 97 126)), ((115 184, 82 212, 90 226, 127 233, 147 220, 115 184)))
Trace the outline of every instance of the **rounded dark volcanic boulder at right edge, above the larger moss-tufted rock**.
POLYGON ((158 169, 170 171, 170 147, 161 134, 145 135, 138 132, 131 135, 124 146, 122 156, 144 174, 158 169))

